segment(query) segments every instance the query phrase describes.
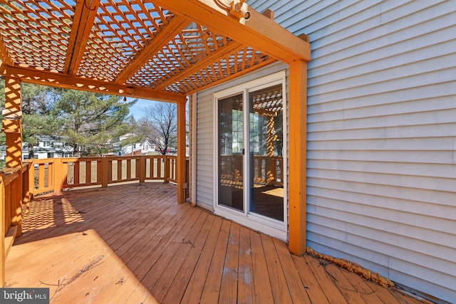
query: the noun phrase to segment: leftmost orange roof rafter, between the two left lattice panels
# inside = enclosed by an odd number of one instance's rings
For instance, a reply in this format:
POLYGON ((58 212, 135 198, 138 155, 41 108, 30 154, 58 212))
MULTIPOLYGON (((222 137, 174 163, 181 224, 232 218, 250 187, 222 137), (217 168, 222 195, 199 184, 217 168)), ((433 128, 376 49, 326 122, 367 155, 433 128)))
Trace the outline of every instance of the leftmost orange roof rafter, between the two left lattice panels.
POLYGON ((64 67, 65 73, 68 75, 73 76, 78 73, 99 4, 100 0, 84 0, 78 1, 76 4, 64 67))

